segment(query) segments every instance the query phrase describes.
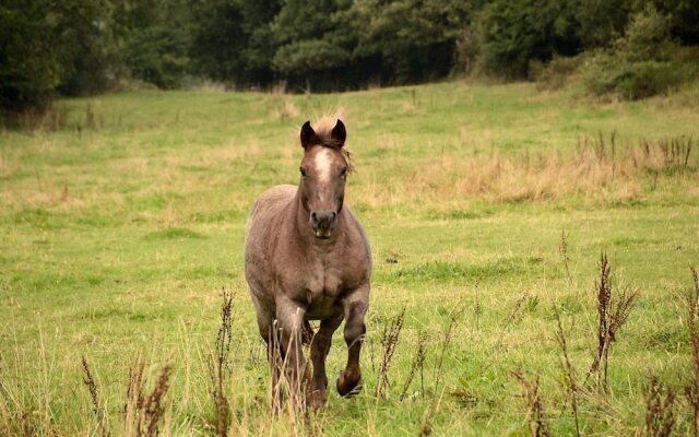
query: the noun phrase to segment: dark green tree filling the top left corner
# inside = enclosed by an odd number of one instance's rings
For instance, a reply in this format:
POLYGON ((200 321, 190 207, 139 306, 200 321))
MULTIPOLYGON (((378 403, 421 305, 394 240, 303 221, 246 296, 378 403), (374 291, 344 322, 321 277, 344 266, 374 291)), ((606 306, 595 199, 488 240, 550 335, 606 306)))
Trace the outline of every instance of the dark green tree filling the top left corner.
POLYGON ((100 0, 8 0, 0 4, 0 108, 43 108, 56 87, 104 88, 100 0))

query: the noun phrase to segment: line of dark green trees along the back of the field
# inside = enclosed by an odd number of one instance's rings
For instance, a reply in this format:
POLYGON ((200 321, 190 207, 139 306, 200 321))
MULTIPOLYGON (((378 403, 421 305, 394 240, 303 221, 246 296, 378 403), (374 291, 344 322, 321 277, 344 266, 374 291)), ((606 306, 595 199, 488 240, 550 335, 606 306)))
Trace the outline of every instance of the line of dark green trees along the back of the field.
POLYGON ((649 14, 637 33, 651 51, 657 35, 699 45, 699 0, 3 0, 0 109, 132 81, 342 91, 474 71, 526 79, 533 62, 614 49, 649 14))

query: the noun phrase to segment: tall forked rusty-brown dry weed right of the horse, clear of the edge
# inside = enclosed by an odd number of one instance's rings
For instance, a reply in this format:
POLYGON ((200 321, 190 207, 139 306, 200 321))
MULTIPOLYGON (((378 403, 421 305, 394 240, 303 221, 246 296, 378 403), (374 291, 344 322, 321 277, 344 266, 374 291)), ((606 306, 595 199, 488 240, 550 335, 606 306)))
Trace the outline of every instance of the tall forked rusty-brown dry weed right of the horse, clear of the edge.
POLYGON ((612 296, 612 267, 606 253, 602 252, 600 259, 600 282, 597 284, 597 353, 590 366, 590 373, 597 374, 597 386, 604 391, 608 388, 607 374, 609 362, 609 347, 616 341, 619 329, 628 319, 633 303, 638 296, 638 290, 624 286, 617 298, 612 296))

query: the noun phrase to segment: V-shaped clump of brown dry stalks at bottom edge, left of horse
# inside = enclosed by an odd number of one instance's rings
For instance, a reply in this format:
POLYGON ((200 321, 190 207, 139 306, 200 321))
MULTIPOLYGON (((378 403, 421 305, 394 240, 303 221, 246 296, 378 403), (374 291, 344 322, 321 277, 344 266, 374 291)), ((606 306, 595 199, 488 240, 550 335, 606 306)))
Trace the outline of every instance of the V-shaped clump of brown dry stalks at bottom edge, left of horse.
POLYGON ((153 437, 159 433, 159 422, 165 414, 165 395, 169 389, 173 371, 170 364, 161 368, 157 380, 150 393, 145 392, 147 385, 143 376, 145 364, 142 357, 137 358, 129 371, 127 386, 127 402, 125 411, 125 436, 153 437))

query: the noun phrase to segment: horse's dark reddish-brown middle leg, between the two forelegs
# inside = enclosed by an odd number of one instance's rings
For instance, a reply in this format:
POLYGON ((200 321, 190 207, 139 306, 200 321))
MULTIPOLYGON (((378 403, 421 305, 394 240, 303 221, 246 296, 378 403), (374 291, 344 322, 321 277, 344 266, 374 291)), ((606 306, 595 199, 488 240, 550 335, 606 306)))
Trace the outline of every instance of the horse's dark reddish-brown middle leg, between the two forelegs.
POLYGON ((342 323, 342 314, 337 317, 320 322, 320 328, 310 343, 310 361, 313 363, 313 376, 306 389, 306 403, 311 409, 320 409, 328 400, 328 376, 325 374, 325 358, 332 344, 332 334, 342 323))

